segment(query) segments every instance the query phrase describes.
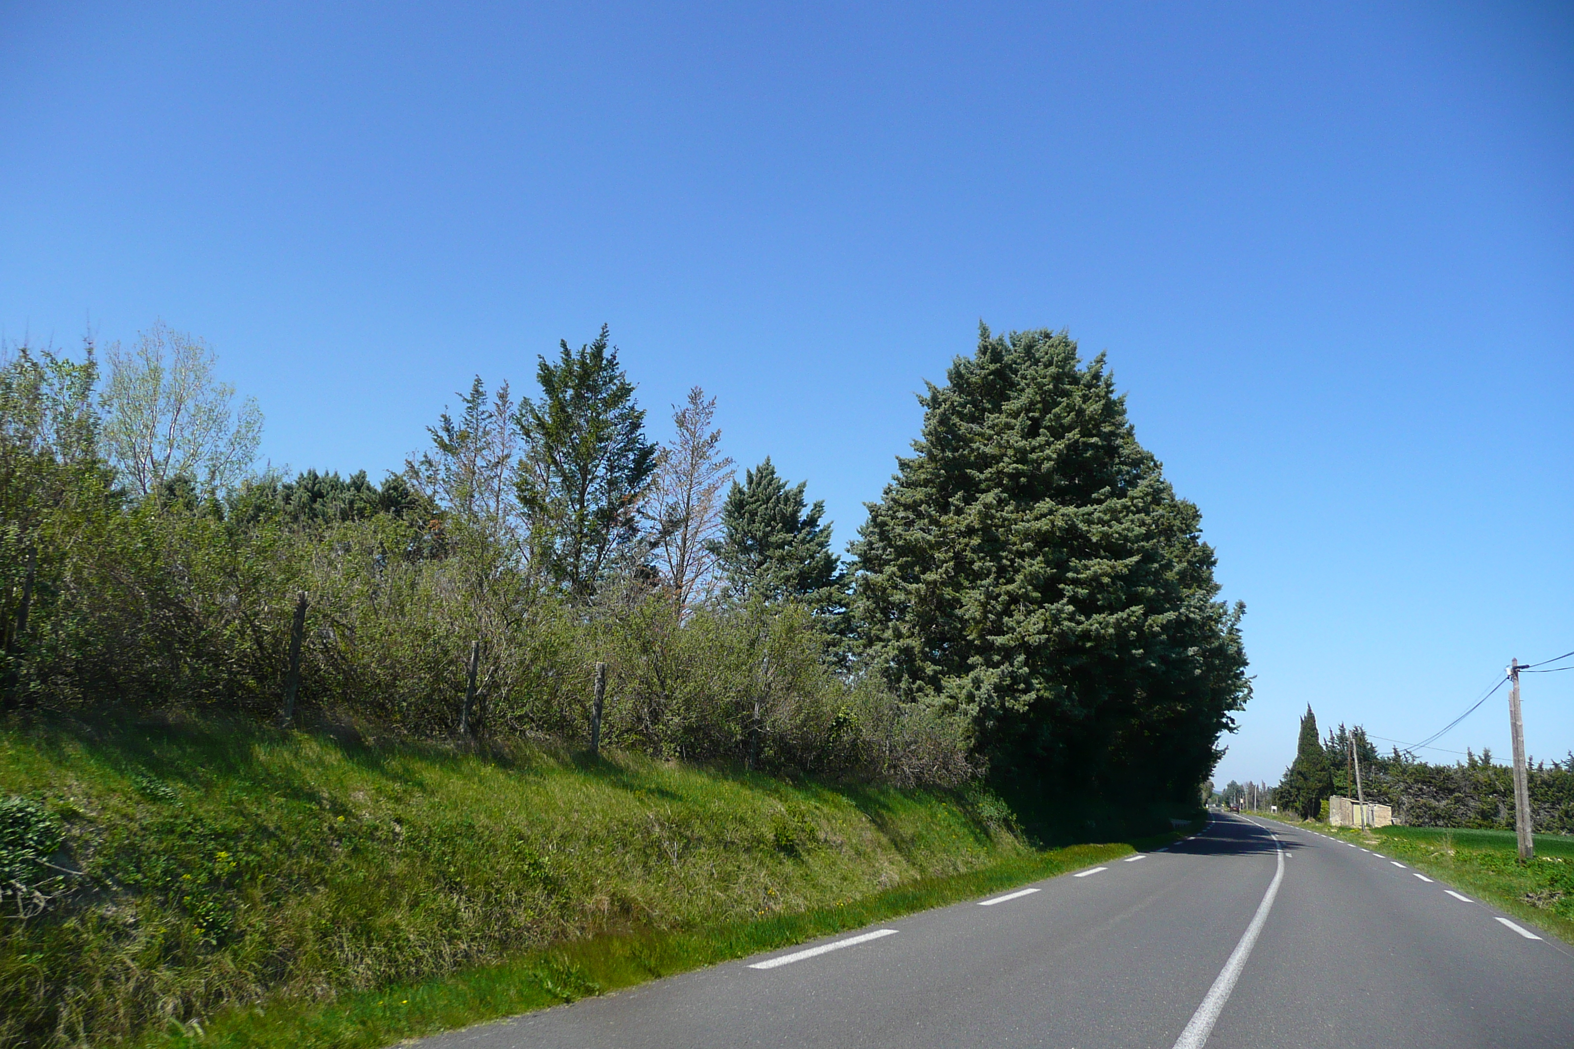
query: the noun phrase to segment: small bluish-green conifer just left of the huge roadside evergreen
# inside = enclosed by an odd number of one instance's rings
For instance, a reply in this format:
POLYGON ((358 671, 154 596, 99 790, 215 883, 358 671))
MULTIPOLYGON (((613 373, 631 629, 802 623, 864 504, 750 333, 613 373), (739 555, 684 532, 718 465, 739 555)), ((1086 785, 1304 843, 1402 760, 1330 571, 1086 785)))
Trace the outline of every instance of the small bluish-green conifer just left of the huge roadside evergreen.
POLYGON ((800 599, 820 612, 841 607, 845 593, 841 558, 831 552, 831 522, 820 524, 825 502, 804 508, 807 481, 789 488, 770 456, 727 489, 722 536, 710 549, 735 596, 800 599))

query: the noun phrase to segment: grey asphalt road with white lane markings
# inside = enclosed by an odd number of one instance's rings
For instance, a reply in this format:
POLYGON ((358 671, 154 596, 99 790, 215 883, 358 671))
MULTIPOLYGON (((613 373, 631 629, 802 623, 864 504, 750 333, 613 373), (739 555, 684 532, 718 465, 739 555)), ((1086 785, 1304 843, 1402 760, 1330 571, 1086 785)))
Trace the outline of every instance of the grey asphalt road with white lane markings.
POLYGON ((1574 951, 1316 834, 1217 816, 1031 889, 419 1044, 1574 1046, 1574 951))

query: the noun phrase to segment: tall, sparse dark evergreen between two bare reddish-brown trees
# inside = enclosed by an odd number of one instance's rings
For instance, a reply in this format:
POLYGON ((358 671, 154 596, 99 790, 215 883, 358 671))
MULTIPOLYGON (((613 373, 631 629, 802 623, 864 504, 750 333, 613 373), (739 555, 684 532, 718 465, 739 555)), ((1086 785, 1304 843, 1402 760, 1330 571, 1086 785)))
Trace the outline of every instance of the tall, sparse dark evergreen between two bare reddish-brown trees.
POLYGON ((656 469, 645 412, 603 324, 595 341, 540 357, 541 399, 515 415, 524 455, 516 483, 534 563, 576 599, 634 552, 639 506, 656 469))

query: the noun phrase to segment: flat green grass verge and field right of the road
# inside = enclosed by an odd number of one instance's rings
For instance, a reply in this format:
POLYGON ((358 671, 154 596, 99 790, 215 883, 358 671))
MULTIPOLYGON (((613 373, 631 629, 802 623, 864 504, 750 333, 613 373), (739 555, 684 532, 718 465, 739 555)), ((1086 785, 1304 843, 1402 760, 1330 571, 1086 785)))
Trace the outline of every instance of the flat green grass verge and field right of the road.
POLYGON ((1513 830, 1447 827, 1360 830, 1330 827, 1325 823, 1302 823, 1294 816, 1250 815, 1280 819, 1377 849, 1574 944, 1574 837, 1571 835, 1535 835, 1536 857, 1520 863, 1513 830))

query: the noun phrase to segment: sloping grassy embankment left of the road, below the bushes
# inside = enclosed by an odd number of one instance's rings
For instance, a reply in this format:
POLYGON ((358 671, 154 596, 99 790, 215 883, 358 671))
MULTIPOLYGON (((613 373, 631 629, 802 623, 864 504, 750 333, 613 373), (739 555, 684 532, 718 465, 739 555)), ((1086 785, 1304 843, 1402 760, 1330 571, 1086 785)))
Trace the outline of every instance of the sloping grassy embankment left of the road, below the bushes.
POLYGON ((1034 849, 984 791, 214 722, 0 730, 0 796, 85 873, 0 928, 3 1046, 382 1046, 1133 848, 1034 849))

